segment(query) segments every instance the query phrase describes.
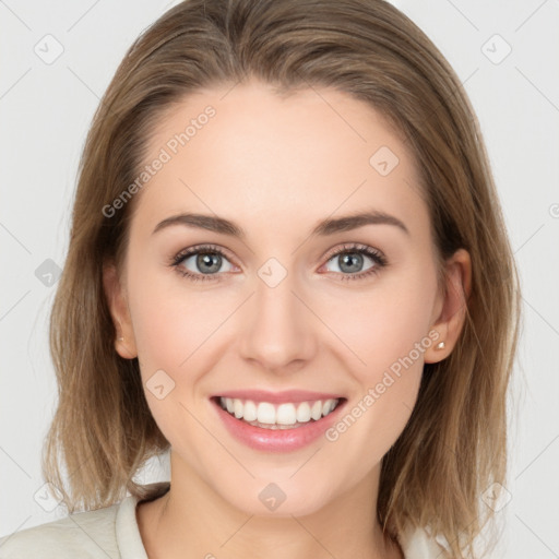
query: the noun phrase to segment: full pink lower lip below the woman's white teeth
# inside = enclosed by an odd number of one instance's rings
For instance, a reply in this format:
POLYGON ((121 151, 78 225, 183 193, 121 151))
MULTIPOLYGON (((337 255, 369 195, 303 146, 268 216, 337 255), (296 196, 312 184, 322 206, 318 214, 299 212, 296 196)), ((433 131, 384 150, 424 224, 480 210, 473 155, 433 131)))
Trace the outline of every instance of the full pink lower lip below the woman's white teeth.
POLYGON ((346 401, 342 401, 337 407, 325 417, 317 421, 310 420, 300 427, 293 429, 265 429, 255 427, 242 419, 237 419, 212 399, 212 404, 217 408, 217 414, 228 431, 240 442, 254 450, 272 452, 289 452, 302 449, 314 442, 334 424, 344 407, 346 401))

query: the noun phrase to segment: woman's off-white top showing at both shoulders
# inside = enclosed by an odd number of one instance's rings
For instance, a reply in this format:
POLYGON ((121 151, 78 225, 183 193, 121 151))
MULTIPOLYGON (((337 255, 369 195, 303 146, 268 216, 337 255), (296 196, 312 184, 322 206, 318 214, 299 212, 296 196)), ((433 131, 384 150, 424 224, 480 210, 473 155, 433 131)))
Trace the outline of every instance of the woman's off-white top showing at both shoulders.
MULTIPOLYGON (((146 486, 153 500, 169 481, 146 486)), ((138 497, 95 511, 78 512, 0 538, 0 559, 148 559, 135 515, 138 497)), ((444 544, 423 528, 399 538, 405 559, 443 559, 444 544)))

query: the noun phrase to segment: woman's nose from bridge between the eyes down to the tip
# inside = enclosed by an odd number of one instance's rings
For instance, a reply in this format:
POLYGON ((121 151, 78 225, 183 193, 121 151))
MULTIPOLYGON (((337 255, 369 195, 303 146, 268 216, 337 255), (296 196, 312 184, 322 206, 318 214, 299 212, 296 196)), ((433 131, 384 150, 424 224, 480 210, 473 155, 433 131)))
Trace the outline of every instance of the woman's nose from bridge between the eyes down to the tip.
POLYGON ((311 357, 316 346, 311 313, 299 300, 299 287, 296 274, 275 259, 258 270, 255 294, 247 306, 247 328, 241 334, 245 358, 280 370, 311 357))

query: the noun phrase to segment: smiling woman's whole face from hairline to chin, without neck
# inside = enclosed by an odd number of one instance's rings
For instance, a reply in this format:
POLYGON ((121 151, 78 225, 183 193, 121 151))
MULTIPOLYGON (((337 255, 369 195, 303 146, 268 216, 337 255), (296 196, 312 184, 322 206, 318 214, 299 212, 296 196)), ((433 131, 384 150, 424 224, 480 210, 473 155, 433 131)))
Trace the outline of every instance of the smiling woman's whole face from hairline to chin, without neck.
POLYGON ((227 91, 190 96, 150 141, 146 164, 163 164, 110 292, 117 350, 139 357, 174 484, 307 514, 373 485, 424 362, 443 357, 429 215, 411 153, 368 105, 227 91))

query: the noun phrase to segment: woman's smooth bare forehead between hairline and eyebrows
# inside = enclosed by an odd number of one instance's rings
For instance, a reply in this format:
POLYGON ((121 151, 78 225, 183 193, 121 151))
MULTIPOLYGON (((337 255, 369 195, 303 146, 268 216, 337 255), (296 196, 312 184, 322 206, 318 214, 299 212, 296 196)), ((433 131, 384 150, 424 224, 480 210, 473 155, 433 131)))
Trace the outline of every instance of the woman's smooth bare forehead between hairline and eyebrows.
POLYGON ((136 210, 147 225, 187 210, 269 229, 271 221, 285 228, 364 207, 427 219, 402 135, 331 88, 281 96, 249 82, 198 91, 162 115, 144 163, 157 158, 164 164, 136 210))

